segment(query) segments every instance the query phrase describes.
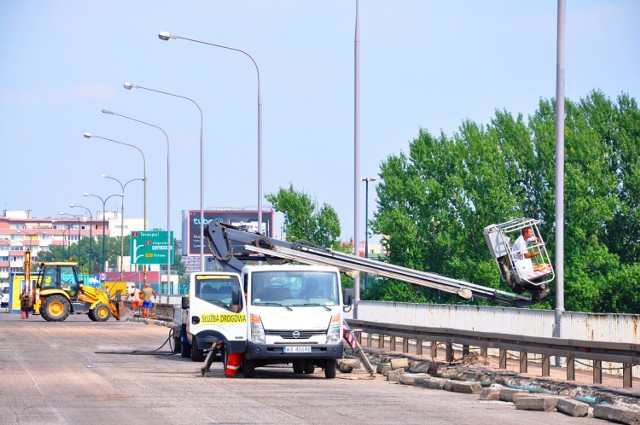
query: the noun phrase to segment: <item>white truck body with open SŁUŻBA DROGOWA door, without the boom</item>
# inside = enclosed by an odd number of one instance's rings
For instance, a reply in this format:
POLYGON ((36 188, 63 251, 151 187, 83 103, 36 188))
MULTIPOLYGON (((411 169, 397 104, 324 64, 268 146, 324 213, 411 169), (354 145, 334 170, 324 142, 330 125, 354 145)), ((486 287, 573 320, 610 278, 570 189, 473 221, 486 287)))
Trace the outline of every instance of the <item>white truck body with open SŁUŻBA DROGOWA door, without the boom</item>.
POLYGON ((294 373, 321 367, 326 378, 334 378, 343 356, 342 313, 335 267, 254 265, 240 273, 195 272, 183 301, 181 354, 202 361, 206 351, 215 356, 218 346, 225 369, 234 366, 231 354, 241 355, 247 378, 270 364, 290 364, 294 373))

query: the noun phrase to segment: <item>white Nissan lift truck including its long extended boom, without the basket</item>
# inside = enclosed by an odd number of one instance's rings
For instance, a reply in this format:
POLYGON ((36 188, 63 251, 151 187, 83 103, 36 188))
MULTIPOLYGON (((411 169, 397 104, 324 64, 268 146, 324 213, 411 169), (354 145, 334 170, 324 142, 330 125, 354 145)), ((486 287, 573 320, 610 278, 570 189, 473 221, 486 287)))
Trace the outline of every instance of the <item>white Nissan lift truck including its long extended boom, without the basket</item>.
POLYGON ((295 373, 324 368, 336 374, 348 342, 369 373, 373 369, 362 352, 343 312, 340 273, 368 272, 456 294, 463 300, 483 299, 524 306, 535 300, 451 279, 435 273, 326 250, 308 243, 267 238, 238 227, 211 222, 205 236, 213 258, 224 271, 191 275, 189 296, 182 300, 181 326, 174 329, 176 349, 194 361, 207 358, 202 374, 221 354, 231 375, 242 370, 253 377, 255 368, 291 364, 295 373), (307 265, 283 264, 288 261, 307 265), (245 265, 245 262, 267 265, 245 265))

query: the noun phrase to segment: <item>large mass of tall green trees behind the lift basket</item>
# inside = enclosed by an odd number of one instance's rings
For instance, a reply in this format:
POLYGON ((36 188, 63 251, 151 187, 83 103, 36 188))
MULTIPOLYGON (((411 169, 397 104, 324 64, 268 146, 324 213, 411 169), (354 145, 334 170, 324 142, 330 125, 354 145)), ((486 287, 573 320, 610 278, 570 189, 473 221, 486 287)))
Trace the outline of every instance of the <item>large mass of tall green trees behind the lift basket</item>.
MULTIPOLYGON (((525 120, 496 111, 487 125, 465 121, 449 137, 426 130, 409 153, 381 164, 372 229, 394 264, 508 290, 483 228, 540 220, 555 250, 555 101, 525 120)), ((640 312, 640 111, 626 94, 594 91, 565 102, 565 306, 573 311, 640 312)), ((371 295, 411 294, 389 286, 371 295)), ((554 288, 552 287, 552 290, 554 288)), ((428 301, 443 295, 422 290, 428 301)), ((538 307, 549 308, 554 294, 538 307)))

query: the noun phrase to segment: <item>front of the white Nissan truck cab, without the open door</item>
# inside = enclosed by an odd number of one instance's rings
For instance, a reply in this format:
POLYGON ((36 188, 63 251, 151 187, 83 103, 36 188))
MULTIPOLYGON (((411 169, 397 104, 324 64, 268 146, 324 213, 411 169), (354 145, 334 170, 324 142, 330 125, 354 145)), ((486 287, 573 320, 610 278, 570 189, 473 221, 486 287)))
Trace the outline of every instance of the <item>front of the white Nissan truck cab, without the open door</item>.
POLYGON ((242 269, 247 295, 244 376, 255 367, 291 364, 294 373, 323 367, 335 377, 342 358, 340 273, 330 266, 266 265, 242 269))

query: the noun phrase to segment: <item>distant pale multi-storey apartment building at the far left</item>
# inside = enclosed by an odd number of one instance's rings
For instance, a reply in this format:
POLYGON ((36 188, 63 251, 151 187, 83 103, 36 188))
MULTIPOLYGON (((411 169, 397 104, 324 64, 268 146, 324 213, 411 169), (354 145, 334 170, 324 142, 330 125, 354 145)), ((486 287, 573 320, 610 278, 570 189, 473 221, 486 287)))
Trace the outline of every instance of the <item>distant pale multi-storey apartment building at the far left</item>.
MULTIPOLYGON (((98 236, 120 237, 132 230, 143 228, 141 218, 121 220, 116 212, 97 212, 96 217, 64 215, 61 217, 34 218, 31 211, 3 211, 0 216, 0 282, 6 282, 10 272, 24 270, 24 256, 31 250, 32 257, 51 246, 71 249, 82 238, 98 236), (121 226, 122 223, 122 226, 121 226)), ((118 265, 114 265, 118 267, 118 265)))

